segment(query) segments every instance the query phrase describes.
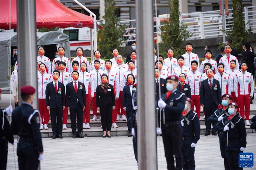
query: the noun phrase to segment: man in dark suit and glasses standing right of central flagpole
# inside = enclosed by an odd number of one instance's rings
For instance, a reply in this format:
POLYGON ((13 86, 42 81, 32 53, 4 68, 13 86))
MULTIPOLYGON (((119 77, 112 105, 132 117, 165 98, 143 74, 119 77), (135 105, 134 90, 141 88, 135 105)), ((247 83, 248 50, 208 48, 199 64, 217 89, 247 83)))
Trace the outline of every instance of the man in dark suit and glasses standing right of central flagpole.
MULTIPOLYGON (((210 117, 221 103, 220 82, 213 79, 213 70, 206 71, 207 79, 201 82, 200 86, 200 103, 204 108, 204 123, 205 123, 205 136, 210 135, 211 123, 207 122, 210 117)), ((213 127, 212 127, 213 129, 213 127)), ((217 135, 216 131, 212 130, 212 135, 217 135)))

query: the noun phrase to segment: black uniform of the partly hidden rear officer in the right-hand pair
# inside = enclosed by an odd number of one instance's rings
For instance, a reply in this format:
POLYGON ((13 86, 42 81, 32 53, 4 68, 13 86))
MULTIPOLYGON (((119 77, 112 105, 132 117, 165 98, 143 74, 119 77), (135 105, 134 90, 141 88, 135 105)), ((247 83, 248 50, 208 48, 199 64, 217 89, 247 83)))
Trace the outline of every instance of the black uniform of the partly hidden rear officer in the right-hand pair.
MULTIPOLYGON (((212 123, 213 125, 218 123, 218 116, 220 115, 220 113, 222 113, 223 109, 218 109, 214 112, 214 114, 212 114, 210 117, 208 117, 207 122, 212 123)), ((225 114, 224 114, 225 116, 225 114)), ((223 116, 223 117, 224 117, 223 116)), ((219 136, 219 143, 220 143, 220 154, 221 157, 224 159, 224 168, 226 169, 230 169, 228 166, 228 159, 226 157, 225 154, 225 143, 226 143, 226 138, 224 135, 223 131, 218 131, 218 136, 219 136)))

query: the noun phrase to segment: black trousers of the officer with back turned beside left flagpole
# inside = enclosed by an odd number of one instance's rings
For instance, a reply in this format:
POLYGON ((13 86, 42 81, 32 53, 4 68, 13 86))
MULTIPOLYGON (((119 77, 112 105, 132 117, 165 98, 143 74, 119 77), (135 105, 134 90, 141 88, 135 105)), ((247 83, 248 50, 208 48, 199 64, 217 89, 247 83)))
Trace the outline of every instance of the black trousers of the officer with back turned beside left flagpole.
POLYGON ((35 150, 34 141, 20 140, 17 147, 19 169, 37 169, 39 153, 35 150))

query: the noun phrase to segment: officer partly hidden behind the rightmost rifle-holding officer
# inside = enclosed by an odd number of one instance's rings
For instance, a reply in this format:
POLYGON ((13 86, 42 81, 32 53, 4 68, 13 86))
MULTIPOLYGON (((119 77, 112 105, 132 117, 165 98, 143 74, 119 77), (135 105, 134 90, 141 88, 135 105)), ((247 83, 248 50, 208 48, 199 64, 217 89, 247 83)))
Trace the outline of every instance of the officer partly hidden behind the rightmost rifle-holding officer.
MULTIPOLYGON (((213 125, 220 122, 223 117, 228 116, 228 104, 232 102, 232 96, 229 94, 225 94, 221 96, 221 105, 222 108, 216 110, 214 114, 212 114, 210 117, 208 117, 207 122, 212 123, 213 125), (221 114, 221 115, 220 115, 221 114)), ((221 157, 224 159, 224 168, 230 169, 228 166, 228 159, 225 155, 225 135, 222 132, 218 132, 219 136, 219 142, 220 142, 220 154, 221 157)))

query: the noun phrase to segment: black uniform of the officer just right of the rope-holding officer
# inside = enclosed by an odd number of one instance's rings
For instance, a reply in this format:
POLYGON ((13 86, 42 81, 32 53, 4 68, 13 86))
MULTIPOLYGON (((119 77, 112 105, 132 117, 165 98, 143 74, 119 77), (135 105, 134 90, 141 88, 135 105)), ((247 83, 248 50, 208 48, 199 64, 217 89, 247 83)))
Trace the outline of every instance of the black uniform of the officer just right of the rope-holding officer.
POLYGON ((182 127, 182 155, 183 155, 183 170, 195 169, 195 147, 191 147, 192 143, 197 143, 200 138, 200 123, 196 112, 189 110, 188 121, 184 120, 182 127))

